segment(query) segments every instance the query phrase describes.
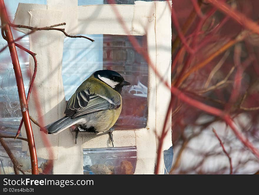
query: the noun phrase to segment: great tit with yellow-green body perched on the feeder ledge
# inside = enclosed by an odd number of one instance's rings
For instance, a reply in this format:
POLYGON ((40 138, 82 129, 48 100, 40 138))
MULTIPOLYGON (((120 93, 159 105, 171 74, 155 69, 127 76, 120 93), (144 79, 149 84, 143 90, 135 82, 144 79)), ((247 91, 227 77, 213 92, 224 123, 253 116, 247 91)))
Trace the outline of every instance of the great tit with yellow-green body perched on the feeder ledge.
MULTIPOLYGON (((120 93, 125 85, 130 83, 115 71, 95 71, 68 100, 65 116, 41 130, 47 130, 48 134, 58 134, 76 125, 76 140, 79 131, 94 133, 112 131, 112 126, 122 110, 120 93)), ((113 142, 112 134, 110 135, 113 142)))

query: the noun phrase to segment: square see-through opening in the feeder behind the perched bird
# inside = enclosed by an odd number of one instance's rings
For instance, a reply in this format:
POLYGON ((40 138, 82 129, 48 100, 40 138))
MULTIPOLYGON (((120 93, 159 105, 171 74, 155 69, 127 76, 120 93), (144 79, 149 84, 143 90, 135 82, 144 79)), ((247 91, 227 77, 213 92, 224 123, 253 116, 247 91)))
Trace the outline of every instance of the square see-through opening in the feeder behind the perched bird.
MULTIPOLYGON (((140 129, 147 125, 148 65, 125 35, 84 35, 94 42, 65 38, 62 79, 66 101, 94 71, 117 71, 130 86, 122 89, 122 112, 115 129, 140 129)), ((146 36, 135 36, 147 50, 146 36)))

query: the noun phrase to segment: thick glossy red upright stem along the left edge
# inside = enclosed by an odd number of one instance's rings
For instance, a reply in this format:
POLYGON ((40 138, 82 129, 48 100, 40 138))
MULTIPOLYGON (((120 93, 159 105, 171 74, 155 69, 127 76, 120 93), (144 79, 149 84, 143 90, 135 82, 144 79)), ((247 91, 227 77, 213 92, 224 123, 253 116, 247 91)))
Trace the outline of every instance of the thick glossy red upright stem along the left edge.
POLYGON ((23 83, 23 78, 22 78, 22 74, 21 74, 21 67, 19 64, 19 59, 18 59, 16 47, 14 44, 14 38, 12 35, 12 31, 8 24, 9 20, 8 20, 8 15, 7 15, 7 12, 5 9, 4 0, 0 0, 0 13, 1 13, 1 23, 2 23, 2 25, 5 24, 4 32, 5 32, 5 36, 6 36, 6 41, 8 43, 9 51, 11 54, 12 63, 14 66, 14 73, 15 73, 15 78, 16 78, 16 83, 17 83, 17 88, 18 88, 20 105, 21 105, 21 113, 22 113, 22 117, 24 119, 24 126, 26 129, 26 135, 27 135, 27 139, 28 139, 29 151, 30 151, 30 156, 31 156, 32 174, 38 174, 38 161, 37 161, 37 155, 36 155, 36 148, 35 148, 32 128, 31 128, 28 104, 27 104, 26 96, 25 96, 24 83, 23 83))

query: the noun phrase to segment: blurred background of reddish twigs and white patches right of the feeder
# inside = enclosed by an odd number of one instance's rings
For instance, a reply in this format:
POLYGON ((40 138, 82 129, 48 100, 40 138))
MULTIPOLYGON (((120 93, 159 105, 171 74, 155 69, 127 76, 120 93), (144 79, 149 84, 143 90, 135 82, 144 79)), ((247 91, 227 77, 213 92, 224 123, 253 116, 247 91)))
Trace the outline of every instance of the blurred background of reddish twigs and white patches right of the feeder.
MULTIPOLYGON (((258 22, 259 1, 218 1, 217 5, 221 2, 258 22)), ((243 135, 259 148, 258 34, 246 31, 229 13, 222 13, 209 1, 173 1, 173 11, 172 85, 193 99, 225 110, 243 135), (186 44, 196 50, 193 54, 179 38, 177 26, 186 44)), ((173 104, 171 174, 230 173, 229 158, 213 128, 231 158, 233 174, 254 174, 259 170, 258 159, 222 119, 177 99, 173 104)))

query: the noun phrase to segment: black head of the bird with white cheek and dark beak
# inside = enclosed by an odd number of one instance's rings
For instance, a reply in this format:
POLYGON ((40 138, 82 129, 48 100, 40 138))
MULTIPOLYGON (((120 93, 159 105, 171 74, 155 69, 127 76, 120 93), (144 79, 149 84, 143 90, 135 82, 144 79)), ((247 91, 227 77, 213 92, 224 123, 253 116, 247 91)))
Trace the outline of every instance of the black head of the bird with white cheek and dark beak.
POLYGON ((124 78, 117 72, 113 70, 98 70, 94 72, 94 77, 103 81, 112 89, 118 91, 119 93, 122 91, 122 87, 124 85, 130 85, 128 81, 125 81, 124 78))

